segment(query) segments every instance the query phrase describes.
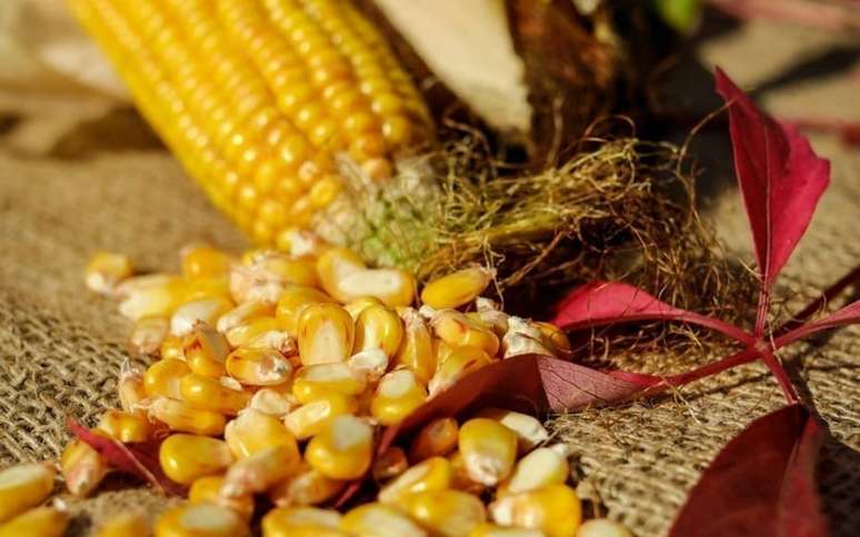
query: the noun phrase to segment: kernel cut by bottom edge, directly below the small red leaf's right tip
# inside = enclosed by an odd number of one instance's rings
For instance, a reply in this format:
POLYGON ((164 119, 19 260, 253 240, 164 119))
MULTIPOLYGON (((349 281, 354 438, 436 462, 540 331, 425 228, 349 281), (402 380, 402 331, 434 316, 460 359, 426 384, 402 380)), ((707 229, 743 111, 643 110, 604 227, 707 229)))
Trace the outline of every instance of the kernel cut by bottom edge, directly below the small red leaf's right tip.
POLYGON ((214 504, 183 504, 164 511, 156 537, 243 537, 248 523, 232 509, 214 504))

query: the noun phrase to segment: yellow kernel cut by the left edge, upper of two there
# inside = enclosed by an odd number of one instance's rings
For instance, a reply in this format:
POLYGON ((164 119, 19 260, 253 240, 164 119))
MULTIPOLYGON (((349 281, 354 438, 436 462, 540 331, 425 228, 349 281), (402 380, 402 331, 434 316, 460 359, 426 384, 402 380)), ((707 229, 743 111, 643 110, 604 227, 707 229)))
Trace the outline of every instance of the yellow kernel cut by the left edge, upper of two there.
POLYGON ((0 521, 40 504, 53 489, 53 466, 21 464, 0 472, 0 521))

